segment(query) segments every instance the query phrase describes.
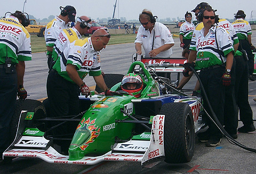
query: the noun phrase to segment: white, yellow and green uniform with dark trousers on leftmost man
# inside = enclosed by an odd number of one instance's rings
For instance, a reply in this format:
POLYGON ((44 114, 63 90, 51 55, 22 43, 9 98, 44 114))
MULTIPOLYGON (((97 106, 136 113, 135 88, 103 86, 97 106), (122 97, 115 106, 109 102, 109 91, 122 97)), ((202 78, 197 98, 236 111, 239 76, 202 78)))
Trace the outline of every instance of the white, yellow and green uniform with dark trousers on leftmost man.
POLYGON ((0 19, 0 155, 9 145, 9 127, 17 98, 17 72, 19 61, 31 60, 30 35, 18 18, 0 19), (7 57, 11 67, 6 68, 7 57))

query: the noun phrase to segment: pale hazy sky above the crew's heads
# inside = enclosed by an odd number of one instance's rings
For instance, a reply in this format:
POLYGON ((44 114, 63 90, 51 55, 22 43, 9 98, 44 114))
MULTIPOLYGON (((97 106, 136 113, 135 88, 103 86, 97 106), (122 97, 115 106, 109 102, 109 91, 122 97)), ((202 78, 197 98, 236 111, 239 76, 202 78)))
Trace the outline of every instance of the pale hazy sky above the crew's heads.
MULTIPOLYGON (((76 8, 77 16, 86 15, 92 19, 112 18, 116 0, 26 0, 25 10, 37 19, 48 18, 50 15, 59 15, 60 6, 72 5, 76 8)), ((1 0, 0 16, 5 12, 22 11, 25 0, 1 0)), ((246 20, 250 21, 251 12, 256 19, 255 0, 117 0, 115 18, 126 18, 126 20, 138 19, 143 9, 150 10, 158 19, 183 18, 186 11, 193 10, 201 2, 209 3, 220 18, 233 19, 234 13, 243 10, 246 20)), ((194 13, 192 13, 194 16, 194 13)))

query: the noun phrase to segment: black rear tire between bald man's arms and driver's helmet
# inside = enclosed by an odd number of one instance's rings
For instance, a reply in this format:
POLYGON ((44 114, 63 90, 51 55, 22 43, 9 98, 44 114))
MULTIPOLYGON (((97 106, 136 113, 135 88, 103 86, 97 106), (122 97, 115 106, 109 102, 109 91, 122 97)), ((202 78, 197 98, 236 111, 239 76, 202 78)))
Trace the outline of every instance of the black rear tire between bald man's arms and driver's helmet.
MULTIPOLYGON (((104 78, 104 81, 105 81, 107 87, 110 89, 111 87, 116 85, 118 82, 121 82, 123 77, 124 77, 123 74, 105 74, 103 78, 104 78)), ((102 90, 100 89, 100 87, 98 85, 96 85, 95 90, 98 93, 102 92, 102 90)))

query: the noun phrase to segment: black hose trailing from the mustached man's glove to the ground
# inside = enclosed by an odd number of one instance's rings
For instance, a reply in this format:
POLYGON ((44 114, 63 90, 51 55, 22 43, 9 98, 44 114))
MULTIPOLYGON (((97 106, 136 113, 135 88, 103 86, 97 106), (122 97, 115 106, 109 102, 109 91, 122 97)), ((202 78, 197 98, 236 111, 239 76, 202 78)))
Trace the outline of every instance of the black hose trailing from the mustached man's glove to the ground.
POLYGON ((213 117, 213 118, 212 118, 209 114, 207 114, 207 116, 209 117, 209 119, 219 128, 219 130, 221 131, 221 133, 222 133, 225 137, 227 137, 228 140, 230 140, 230 141, 232 142, 231 144, 234 143, 235 145, 237 145, 237 146, 239 146, 239 147, 241 147, 241 148, 243 148, 243 149, 245 149, 245 150, 247 150, 247 151, 255 152, 255 153, 256 153, 256 149, 250 148, 250 147, 246 147, 246 146, 244 146, 243 144, 238 143, 238 142, 237 142, 233 137, 231 137, 231 136, 228 134, 228 132, 222 127, 220 121, 218 120, 218 118, 216 117, 216 115, 215 115, 215 113, 214 113, 214 111, 213 111, 213 109, 212 109, 212 106, 211 106, 211 104, 210 104, 210 102, 209 102, 208 97, 206 96, 206 93, 205 93, 205 90, 204 90, 204 86, 203 86, 203 84, 202 84, 201 79, 199 78, 198 73, 196 72, 196 70, 195 70, 193 67, 190 67, 190 69, 195 73, 195 75, 196 75, 196 77, 197 77, 197 79, 198 79, 198 81, 199 81, 201 90, 202 90, 202 92, 203 92, 203 94, 204 94, 204 96, 205 96, 205 102, 206 102, 207 105, 209 106, 209 109, 210 109, 210 111, 211 111, 211 113, 212 113, 212 117, 213 117), (213 119, 214 119, 215 121, 214 121, 213 119))

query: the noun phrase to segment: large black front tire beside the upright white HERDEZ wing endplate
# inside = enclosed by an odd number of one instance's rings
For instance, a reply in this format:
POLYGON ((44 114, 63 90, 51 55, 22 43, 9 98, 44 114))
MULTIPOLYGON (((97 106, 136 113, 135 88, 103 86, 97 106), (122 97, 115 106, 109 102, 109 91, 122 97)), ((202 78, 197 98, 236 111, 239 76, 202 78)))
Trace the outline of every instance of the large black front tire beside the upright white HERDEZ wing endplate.
POLYGON ((166 103, 159 114, 165 115, 164 153, 167 163, 191 161, 195 148, 195 126, 187 103, 166 103))

